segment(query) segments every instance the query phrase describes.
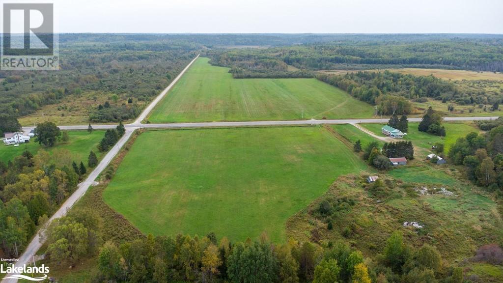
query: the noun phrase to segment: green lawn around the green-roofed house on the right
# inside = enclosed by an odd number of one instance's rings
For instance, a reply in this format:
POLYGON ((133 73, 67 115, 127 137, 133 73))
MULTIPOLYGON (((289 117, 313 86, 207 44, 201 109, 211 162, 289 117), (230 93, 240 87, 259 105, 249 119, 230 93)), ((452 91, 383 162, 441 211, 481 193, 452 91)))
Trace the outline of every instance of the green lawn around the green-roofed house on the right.
MULTIPOLYGON (((469 132, 479 132, 477 128, 472 125, 464 123, 443 123, 446 130, 446 136, 441 137, 417 130, 419 123, 409 123, 409 130, 407 135, 403 138, 405 140, 410 140, 414 146, 422 148, 424 150, 430 150, 432 145, 435 143, 444 143, 444 152, 447 154, 452 145, 456 143, 458 137, 465 136, 469 132)), ((385 136, 381 132, 381 127, 383 124, 362 124, 365 128, 371 130, 375 134, 385 136)))

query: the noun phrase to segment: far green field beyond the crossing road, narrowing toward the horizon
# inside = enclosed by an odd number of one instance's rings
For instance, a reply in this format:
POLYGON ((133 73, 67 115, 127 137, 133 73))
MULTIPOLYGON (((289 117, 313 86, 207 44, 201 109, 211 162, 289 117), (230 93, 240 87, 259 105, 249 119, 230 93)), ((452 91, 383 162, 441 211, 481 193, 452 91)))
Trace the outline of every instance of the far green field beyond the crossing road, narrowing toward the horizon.
POLYGON ((316 79, 233 79, 199 58, 154 108, 160 122, 370 118, 370 104, 316 79))

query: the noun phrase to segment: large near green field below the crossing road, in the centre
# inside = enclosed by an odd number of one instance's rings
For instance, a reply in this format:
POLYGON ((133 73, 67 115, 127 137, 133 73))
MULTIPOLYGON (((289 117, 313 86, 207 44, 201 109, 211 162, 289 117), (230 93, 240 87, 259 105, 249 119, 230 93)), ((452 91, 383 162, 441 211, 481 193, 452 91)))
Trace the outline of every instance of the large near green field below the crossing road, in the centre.
POLYGON ((319 126, 147 131, 103 198, 144 233, 278 242, 290 216, 364 169, 319 126))

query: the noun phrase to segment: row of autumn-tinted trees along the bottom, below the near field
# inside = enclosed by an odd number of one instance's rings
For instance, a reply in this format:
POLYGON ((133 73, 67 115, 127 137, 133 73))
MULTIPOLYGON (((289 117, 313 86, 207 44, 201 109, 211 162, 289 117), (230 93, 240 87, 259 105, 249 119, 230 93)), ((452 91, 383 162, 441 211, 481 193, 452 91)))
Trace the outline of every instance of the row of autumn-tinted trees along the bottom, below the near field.
POLYGON ((148 235, 123 243, 103 243, 101 218, 91 210, 76 209, 48 229, 46 259, 67 265, 96 257, 95 282, 447 282, 461 283, 461 268, 443 262, 428 244, 408 246, 400 232, 391 234, 374 260, 340 241, 318 245, 290 239, 271 243, 232 242, 204 237, 148 235), (78 239, 78 240, 77 240, 78 239))

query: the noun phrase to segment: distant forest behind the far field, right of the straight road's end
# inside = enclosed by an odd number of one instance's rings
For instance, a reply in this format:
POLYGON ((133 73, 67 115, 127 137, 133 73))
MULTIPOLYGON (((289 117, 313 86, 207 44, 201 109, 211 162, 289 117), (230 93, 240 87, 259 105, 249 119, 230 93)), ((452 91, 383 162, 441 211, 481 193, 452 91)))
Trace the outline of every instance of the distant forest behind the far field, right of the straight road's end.
POLYGON ((273 77, 278 77, 279 71, 284 77, 294 76, 287 72, 287 65, 303 70, 422 67, 503 72, 502 44, 498 35, 347 35, 295 46, 205 52, 213 64, 231 67, 237 78, 262 77, 267 67, 273 77))

